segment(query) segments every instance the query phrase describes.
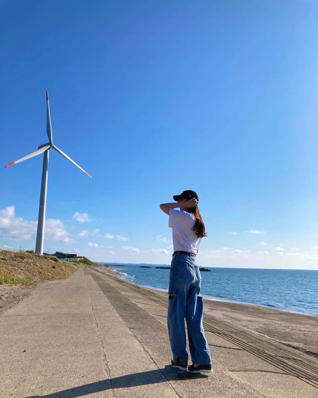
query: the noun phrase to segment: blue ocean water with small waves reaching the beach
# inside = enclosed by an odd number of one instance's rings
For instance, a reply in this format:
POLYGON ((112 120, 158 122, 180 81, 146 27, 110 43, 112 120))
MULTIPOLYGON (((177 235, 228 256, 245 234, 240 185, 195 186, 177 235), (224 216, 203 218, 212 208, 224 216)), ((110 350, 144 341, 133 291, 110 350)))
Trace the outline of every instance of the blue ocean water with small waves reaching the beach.
MULTIPOLYGON (((107 263, 105 263, 107 264, 107 263)), ((168 291, 167 265, 127 264, 118 269, 122 279, 168 291)), ((117 265, 115 265, 117 266, 117 265)), ((219 301, 254 304, 277 310, 318 315, 318 271, 294 269, 210 268, 201 272, 201 294, 219 301)))

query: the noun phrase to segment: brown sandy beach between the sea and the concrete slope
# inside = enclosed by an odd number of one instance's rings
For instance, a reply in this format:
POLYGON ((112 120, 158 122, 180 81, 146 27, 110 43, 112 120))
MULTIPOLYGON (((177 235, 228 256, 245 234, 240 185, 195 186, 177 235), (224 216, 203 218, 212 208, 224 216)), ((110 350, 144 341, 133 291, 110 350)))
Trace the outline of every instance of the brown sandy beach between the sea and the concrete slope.
MULTIPOLYGON (((113 271, 124 270, 123 267, 97 267, 96 269, 104 273, 111 273, 118 279, 121 279, 120 275, 113 271)), ((157 289, 147 287, 143 287, 143 289, 167 297, 167 293, 157 289)), ((227 322, 280 343, 291 345, 318 358, 318 316, 207 299, 204 299, 204 312, 221 322, 227 322)))

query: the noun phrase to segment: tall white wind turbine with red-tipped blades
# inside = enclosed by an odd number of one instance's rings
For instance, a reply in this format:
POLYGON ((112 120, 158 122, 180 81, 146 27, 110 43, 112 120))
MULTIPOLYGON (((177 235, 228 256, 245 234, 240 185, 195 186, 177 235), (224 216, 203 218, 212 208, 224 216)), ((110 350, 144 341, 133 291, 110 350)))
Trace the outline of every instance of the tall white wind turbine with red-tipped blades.
POLYGON ((16 160, 15 162, 9 163, 4 167, 13 166, 16 163, 23 162, 23 160, 27 160, 33 158, 34 156, 40 155, 44 152, 43 155, 43 168, 42 168, 42 182, 41 182, 41 194, 40 194, 40 205, 39 205, 39 217, 37 221, 37 241, 35 244, 35 253, 43 254, 43 243, 44 243, 44 226, 45 226, 45 210, 47 206, 47 178, 48 178, 48 151, 53 148, 58 152, 60 155, 64 156, 67 160, 74 164, 74 166, 78 167, 86 176, 91 176, 85 172, 77 163, 74 162, 69 156, 67 156, 64 152, 58 149, 53 144, 52 139, 52 126, 51 126, 51 117, 50 117, 50 105, 48 103, 48 92, 47 92, 47 136, 48 136, 48 143, 40 145, 37 150, 34 152, 29 153, 28 155, 23 156, 16 160))

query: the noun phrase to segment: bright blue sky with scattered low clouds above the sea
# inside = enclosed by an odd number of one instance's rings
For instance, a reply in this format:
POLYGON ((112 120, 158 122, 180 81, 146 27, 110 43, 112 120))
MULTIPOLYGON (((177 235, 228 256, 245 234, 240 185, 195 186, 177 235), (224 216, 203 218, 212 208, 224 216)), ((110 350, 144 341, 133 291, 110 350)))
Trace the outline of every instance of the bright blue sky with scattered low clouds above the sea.
MULTIPOLYGON (((169 263, 159 204, 193 189, 200 265, 318 269, 316 2, 0 10, 3 166, 47 142, 48 90, 54 144, 93 177, 50 151, 45 251, 169 263)), ((35 247, 42 159, 2 168, 2 248, 35 247)))

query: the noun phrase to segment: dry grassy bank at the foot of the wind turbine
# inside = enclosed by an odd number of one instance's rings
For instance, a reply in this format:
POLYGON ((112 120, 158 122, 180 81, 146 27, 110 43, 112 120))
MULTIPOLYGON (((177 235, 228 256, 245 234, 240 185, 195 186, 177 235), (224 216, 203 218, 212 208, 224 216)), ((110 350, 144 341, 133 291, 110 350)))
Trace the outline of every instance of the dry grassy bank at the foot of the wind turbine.
POLYGON ((0 250, 0 285, 35 286, 38 282, 66 279, 79 266, 58 261, 54 256, 0 250))

